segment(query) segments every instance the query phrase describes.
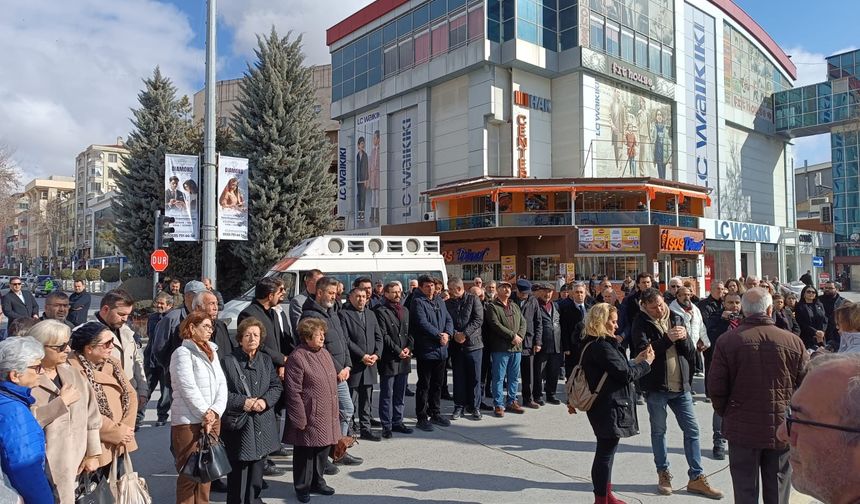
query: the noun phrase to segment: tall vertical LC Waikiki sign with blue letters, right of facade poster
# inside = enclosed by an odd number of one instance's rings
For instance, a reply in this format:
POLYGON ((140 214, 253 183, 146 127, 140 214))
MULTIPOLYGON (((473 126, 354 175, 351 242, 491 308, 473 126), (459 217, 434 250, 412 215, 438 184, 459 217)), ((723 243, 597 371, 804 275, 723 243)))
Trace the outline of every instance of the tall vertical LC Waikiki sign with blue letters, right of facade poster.
MULTIPOLYGON (((714 18, 684 4, 686 24, 687 180, 690 184, 717 187, 717 65, 714 18)), ((713 217, 719 208, 718 192, 705 211, 713 217)))

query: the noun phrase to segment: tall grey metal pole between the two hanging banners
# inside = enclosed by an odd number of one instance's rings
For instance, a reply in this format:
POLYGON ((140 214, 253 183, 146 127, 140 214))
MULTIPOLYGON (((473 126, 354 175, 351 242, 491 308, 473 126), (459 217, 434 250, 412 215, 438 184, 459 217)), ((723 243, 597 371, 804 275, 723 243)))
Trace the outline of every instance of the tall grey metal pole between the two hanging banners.
POLYGON ((215 177, 215 1, 207 2, 206 22, 206 115, 203 121, 203 219, 200 226, 203 238, 203 276, 217 285, 215 271, 215 204, 217 201, 215 177))

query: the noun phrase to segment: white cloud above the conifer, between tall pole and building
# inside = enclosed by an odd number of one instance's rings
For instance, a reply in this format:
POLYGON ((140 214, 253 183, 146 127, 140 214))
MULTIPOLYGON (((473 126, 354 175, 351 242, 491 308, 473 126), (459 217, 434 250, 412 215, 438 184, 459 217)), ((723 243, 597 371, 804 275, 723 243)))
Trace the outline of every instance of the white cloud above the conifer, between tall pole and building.
POLYGON ((325 32, 346 19, 371 0, 221 0, 218 17, 233 31, 233 51, 251 59, 257 47, 257 35, 268 35, 272 26, 278 34, 302 35, 306 62, 319 65, 330 62, 325 32))

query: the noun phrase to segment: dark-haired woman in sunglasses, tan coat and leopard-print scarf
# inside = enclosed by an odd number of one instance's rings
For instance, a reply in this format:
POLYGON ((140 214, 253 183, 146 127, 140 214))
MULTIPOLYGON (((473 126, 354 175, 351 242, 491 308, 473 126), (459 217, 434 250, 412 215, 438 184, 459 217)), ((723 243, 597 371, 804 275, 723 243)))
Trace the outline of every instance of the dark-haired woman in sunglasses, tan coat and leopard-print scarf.
POLYGON ((101 414, 101 455, 98 466, 107 476, 115 457, 137 450, 134 425, 137 394, 122 364, 111 357, 113 333, 100 322, 87 322, 72 331, 69 364, 93 389, 101 414))

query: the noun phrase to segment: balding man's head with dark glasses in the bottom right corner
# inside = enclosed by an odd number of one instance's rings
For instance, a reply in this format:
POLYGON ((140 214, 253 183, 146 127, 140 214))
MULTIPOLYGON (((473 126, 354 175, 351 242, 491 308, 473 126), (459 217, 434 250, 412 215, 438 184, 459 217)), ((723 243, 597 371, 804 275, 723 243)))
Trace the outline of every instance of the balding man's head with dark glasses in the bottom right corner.
POLYGON ((860 502, 860 353, 812 359, 777 437, 794 488, 824 504, 860 502))

